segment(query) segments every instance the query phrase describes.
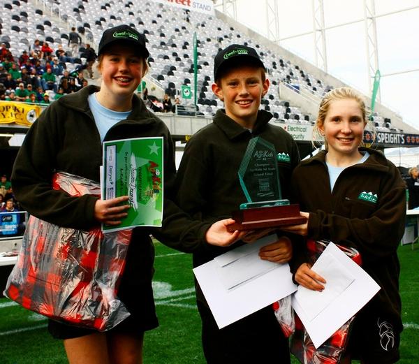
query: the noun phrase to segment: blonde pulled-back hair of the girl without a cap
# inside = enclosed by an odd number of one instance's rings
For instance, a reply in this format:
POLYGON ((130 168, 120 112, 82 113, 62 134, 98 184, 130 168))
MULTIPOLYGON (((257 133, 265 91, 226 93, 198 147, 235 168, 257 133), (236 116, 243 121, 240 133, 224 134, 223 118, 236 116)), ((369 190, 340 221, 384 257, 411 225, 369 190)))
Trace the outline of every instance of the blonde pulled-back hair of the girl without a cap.
MULTIPOLYGON (((323 99, 318 107, 318 115, 316 119, 316 124, 314 125, 313 129, 313 145, 314 141, 323 140, 326 150, 328 149, 328 143, 324 139, 323 134, 321 133, 321 127, 323 126, 325 122, 326 115, 328 114, 330 105, 333 101, 338 100, 344 100, 344 99, 352 99, 355 100, 361 110, 362 113, 362 120, 364 121, 364 129, 366 128, 369 119, 369 111, 367 110, 367 107, 365 106, 365 101, 362 98, 361 94, 356 92, 354 89, 351 89, 351 87, 339 87, 337 89, 332 89, 329 91, 325 96, 323 96, 323 99)), ((373 134, 375 136, 375 133, 373 131, 373 134)), ((373 138, 375 139, 375 138, 373 138)), ((361 146, 364 143, 361 143, 361 146)))

